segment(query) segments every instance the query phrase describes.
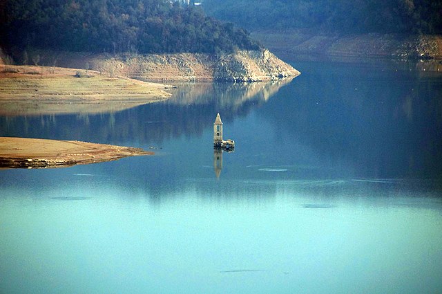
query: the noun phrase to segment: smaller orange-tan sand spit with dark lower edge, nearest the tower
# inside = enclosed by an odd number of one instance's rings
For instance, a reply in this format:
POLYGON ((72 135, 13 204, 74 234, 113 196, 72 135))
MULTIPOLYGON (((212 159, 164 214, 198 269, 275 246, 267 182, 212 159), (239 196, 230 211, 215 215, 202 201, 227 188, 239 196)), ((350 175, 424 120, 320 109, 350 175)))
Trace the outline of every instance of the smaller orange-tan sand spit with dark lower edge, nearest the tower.
POLYGON ((48 168, 152 155, 139 148, 67 140, 0 137, 0 167, 48 168))

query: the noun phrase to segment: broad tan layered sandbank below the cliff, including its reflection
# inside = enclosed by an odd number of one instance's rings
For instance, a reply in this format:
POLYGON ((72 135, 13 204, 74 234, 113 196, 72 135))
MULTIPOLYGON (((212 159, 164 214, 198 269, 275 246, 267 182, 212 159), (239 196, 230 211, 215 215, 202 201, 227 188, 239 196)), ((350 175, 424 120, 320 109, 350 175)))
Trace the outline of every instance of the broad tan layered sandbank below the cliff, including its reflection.
POLYGON ((119 111, 166 100, 170 88, 73 68, 0 66, 0 115, 119 111))

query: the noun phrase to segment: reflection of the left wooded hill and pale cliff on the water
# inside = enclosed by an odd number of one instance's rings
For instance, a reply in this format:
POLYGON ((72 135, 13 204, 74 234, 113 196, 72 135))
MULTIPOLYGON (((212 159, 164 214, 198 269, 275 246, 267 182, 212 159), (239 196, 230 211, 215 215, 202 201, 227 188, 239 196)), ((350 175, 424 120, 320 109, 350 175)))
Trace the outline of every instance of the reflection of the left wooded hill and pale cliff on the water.
POLYGON ((229 122, 262 104, 290 80, 251 84, 182 84, 173 98, 117 113, 0 118, 1 136, 161 143, 166 138, 202 134, 213 113, 229 122), (177 123, 179 122, 179 123, 177 123))

